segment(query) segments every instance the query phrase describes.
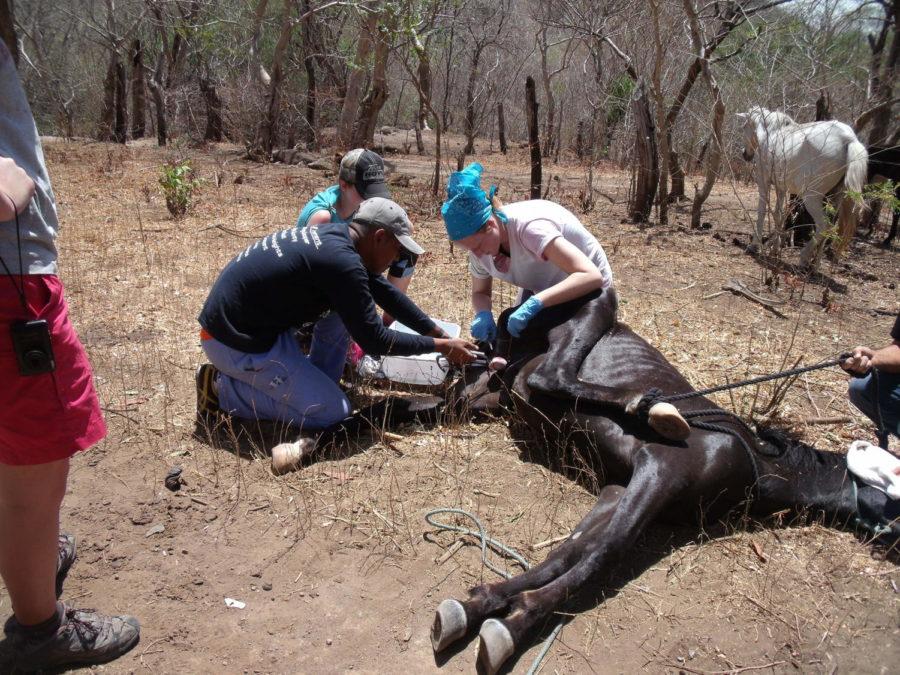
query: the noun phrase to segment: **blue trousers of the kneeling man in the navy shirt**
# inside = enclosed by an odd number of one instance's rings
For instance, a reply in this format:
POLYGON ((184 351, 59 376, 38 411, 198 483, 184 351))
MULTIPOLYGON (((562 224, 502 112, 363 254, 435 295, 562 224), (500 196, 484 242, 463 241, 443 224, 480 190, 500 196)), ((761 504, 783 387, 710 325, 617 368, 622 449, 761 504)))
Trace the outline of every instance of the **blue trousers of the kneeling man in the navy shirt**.
POLYGON ((220 373, 222 410, 317 431, 352 412, 337 384, 349 344, 347 329, 332 312, 316 323, 309 356, 292 331, 282 333, 268 352, 260 354, 241 352, 214 339, 203 341, 203 351, 220 373))

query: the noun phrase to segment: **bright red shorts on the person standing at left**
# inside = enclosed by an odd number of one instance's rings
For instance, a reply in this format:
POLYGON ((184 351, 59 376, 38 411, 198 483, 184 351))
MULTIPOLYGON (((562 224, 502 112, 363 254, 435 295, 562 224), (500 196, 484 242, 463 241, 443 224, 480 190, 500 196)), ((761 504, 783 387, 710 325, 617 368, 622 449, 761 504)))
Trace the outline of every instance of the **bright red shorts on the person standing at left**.
POLYGON ((56 370, 19 374, 10 325, 23 318, 22 304, 10 277, 0 275, 0 463, 46 464, 91 447, 106 436, 106 425, 59 278, 12 279, 25 284, 29 318, 50 326, 56 370))

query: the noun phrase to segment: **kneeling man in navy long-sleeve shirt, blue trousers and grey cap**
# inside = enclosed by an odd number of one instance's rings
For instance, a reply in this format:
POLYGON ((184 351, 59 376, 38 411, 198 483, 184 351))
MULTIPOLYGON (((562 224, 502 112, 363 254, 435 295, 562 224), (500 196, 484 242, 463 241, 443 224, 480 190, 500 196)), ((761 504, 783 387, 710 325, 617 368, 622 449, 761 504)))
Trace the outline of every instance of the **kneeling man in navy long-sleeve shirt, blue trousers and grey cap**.
POLYGON ((404 251, 421 254, 406 212, 389 199, 362 202, 346 223, 276 232, 222 271, 199 316, 212 366, 197 374, 198 414, 224 412, 317 431, 352 412, 338 386, 352 336, 366 353, 440 352, 457 364, 474 345, 450 339, 384 271, 404 251), (385 328, 376 304, 420 333, 385 328), (293 327, 315 322, 309 355, 293 327), (349 335, 348 335, 349 332, 349 335))

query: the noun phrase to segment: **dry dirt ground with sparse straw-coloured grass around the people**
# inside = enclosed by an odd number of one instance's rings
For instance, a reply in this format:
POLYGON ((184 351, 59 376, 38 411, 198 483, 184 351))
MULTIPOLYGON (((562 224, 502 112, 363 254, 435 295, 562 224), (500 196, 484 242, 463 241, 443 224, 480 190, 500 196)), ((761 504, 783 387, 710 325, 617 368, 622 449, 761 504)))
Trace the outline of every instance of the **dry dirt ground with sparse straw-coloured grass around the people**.
MULTIPOLYGON (((51 141, 45 149, 62 221, 62 276, 109 423, 108 438, 73 464, 63 526, 79 538, 79 560, 64 597, 133 613, 143 625, 140 645, 101 670, 472 672, 476 641, 436 661, 429 627, 443 598, 464 597, 495 575, 471 541, 435 562, 456 536, 435 532, 424 514, 468 509, 539 562, 551 549, 530 547, 569 532, 592 495, 523 461, 502 421, 408 426, 402 440, 373 437, 349 457, 277 478, 264 457, 239 458, 195 439, 195 317, 210 285, 248 242, 291 224, 330 179, 248 163, 225 146, 176 153, 51 141), (179 222, 156 184, 159 165, 175 154, 192 158, 206 180, 196 210, 179 222), (177 493, 163 486, 174 465, 184 469, 177 493), (226 597, 246 607, 228 608, 226 597)), ((522 198, 523 151, 480 150, 503 197, 522 198)), ((394 193, 430 251, 411 294, 433 316, 467 326, 465 259, 445 241, 439 202, 426 188, 428 160, 390 160, 410 177, 394 193)), ((606 248, 621 318, 696 386, 887 341, 898 307, 896 250, 858 243, 844 262, 825 263, 817 283, 782 273, 767 287, 772 273, 732 243, 748 241, 751 187, 720 183, 705 212, 712 229, 696 233, 686 226, 689 208, 666 228, 623 223, 628 176, 614 167, 595 174, 605 196, 590 213, 581 208, 580 167, 547 174, 560 176, 550 198, 582 216, 606 248), (709 297, 729 279, 784 301, 785 318, 731 293, 709 297)), ((512 296, 502 289, 497 308, 512 296)), ((850 439, 873 437, 845 389, 839 372, 816 371, 770 416, 817 447, 843 451, 850 439), (805 422, 831 417, 849 421, 805 422)), ((719 400, 746 413, 765 407, 773 391, 719 400)), ((900 572, 883 558, 819 524, 655 528, 619 583, 567 607, 572 620, 542 672, 897 672, 900 572)), ((539 644, 537 636, 517 654, 512 671, 524 672, 539 644)))

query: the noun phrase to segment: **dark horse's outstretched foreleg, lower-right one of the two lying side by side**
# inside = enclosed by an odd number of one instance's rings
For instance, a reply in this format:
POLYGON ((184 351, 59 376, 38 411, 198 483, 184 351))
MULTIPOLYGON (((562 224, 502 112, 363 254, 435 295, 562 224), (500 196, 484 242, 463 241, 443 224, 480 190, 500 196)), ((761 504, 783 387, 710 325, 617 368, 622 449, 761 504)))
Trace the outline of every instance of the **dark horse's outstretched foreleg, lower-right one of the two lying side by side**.
POLYGON ((632 479, 609 524, 579 539, 583 544, 578 561, 543 587, 516 596, 507 618, 488 619, 482 624, 478 661, 483 672, 495 673, 532 628, 596 576, 609 573, 646 526, 682 494, 692 476, 700 473, 677 451, 656 454, 644 446, 635 454, 634 462, 632 479))

